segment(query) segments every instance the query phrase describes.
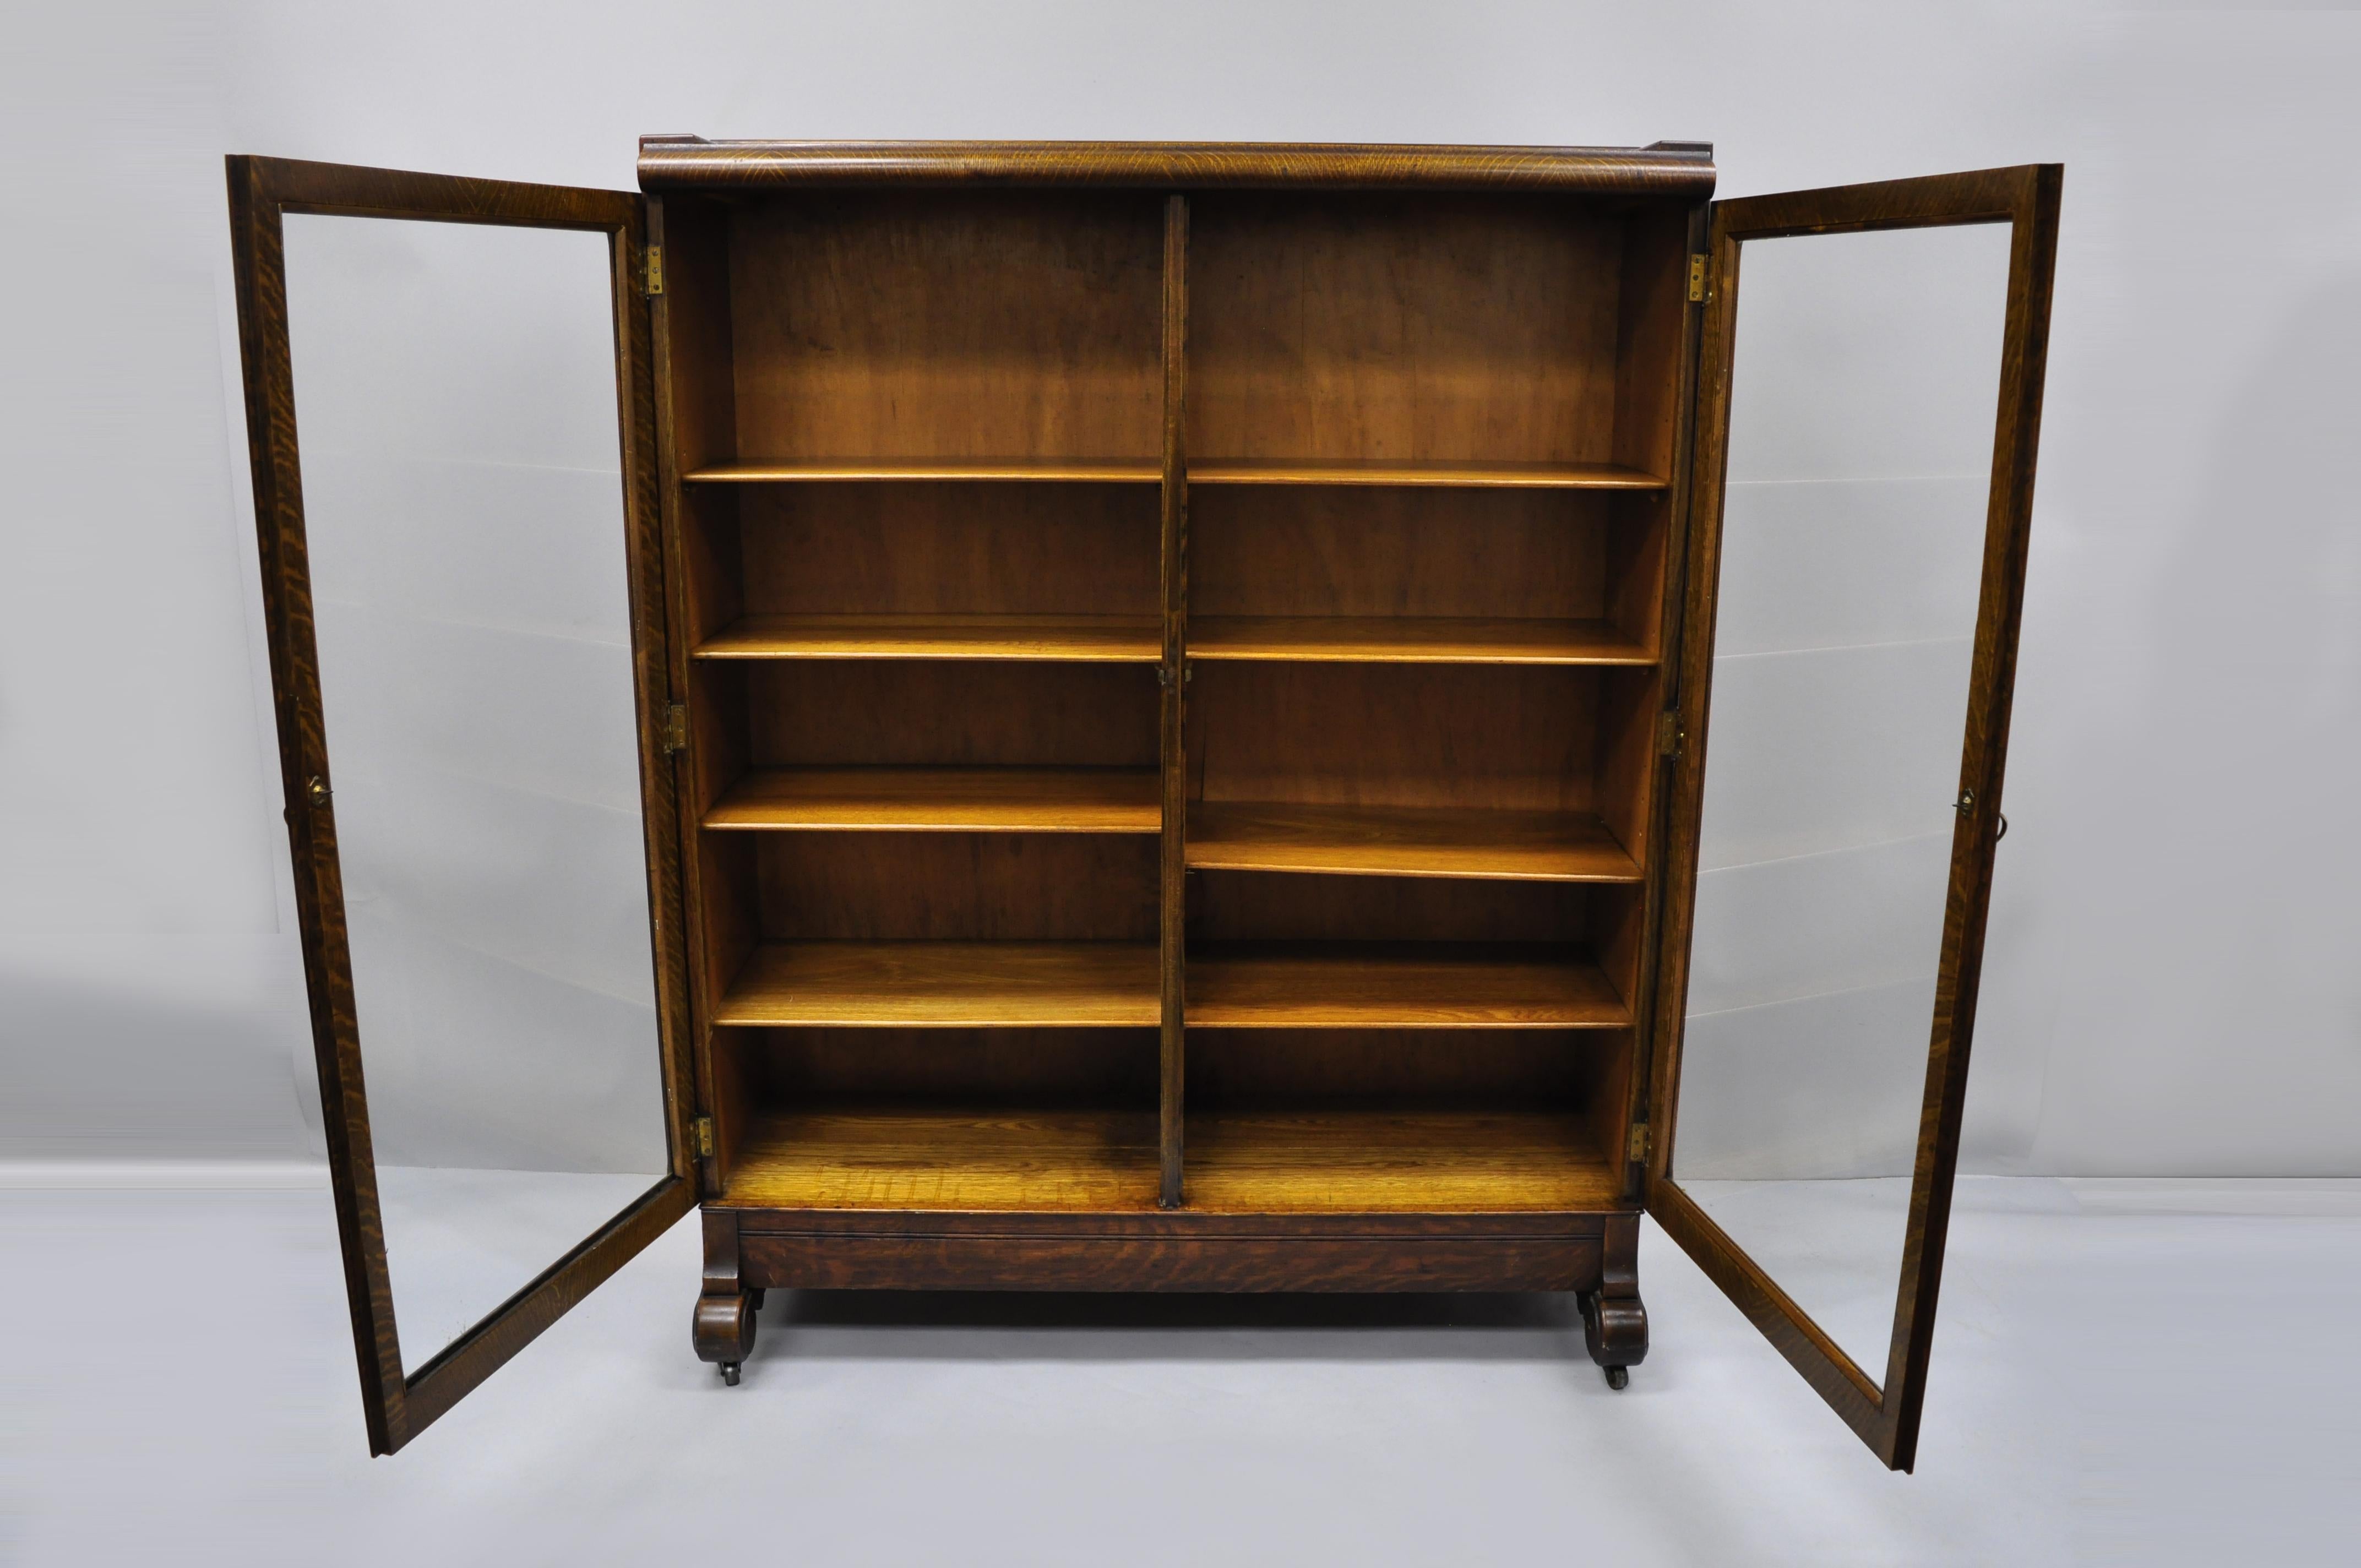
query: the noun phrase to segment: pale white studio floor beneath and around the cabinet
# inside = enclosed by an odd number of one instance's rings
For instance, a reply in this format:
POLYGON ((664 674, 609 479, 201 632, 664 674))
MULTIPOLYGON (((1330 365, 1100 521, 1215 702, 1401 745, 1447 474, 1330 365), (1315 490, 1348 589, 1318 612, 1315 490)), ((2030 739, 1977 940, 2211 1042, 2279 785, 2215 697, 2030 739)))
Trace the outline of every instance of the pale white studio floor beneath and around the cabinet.
POLYGON ((0 1188, 0 1563, 2361 1561, 2361 1183, 1962 1183, 1917 1476, 1655 1230, 1627 1393, 1554 1296, 777 1294, 725 1389, 694 1219, 368 1459, 316 1171, 0 1188))

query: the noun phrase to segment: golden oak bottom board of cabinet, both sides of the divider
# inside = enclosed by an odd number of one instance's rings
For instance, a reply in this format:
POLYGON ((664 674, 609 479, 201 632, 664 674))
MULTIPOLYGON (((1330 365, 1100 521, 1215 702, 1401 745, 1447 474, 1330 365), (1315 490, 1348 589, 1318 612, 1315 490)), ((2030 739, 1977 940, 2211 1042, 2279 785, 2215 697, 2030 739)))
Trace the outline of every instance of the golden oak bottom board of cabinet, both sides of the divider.
MULTIPOLYGON (((1183 1214, 1582 1211, 1620 1204, 1589 1124, 1551 1112, 1199 1112, 1183 1214)), ((1150 1211, 1155 1112, 829 1108, 744 1133, 727 1209, 1150 1211)))

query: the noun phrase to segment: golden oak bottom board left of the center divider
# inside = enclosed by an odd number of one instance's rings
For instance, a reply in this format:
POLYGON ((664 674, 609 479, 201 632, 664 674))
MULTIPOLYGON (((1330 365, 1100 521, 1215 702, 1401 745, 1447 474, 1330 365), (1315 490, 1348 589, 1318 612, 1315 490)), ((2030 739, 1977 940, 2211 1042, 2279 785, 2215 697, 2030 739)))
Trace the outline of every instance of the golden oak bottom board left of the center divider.
POLYGON ((843 1108, 758 1117, 725 1209, 1155 1209, 1157 1115, 843 1108))

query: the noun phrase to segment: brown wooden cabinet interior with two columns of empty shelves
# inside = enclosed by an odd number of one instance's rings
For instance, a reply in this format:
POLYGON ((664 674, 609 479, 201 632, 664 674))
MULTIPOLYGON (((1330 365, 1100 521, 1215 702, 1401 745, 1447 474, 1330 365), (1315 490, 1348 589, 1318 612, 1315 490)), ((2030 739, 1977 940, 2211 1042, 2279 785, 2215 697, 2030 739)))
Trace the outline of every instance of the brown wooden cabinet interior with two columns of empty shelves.
POLYGON ((1688 215, 661 203, 708 1202, 1629 1207, 1688 215))

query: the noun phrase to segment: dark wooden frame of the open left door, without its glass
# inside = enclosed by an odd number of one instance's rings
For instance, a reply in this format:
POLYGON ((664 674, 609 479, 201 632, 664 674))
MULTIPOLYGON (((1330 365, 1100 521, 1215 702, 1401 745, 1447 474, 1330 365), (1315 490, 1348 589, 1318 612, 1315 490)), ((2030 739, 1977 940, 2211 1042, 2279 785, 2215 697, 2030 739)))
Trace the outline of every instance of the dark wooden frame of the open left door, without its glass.
POLYGON ((231 156, 227 163, 238 352, 246 366, 246 442, 253 458, 262 607, 279 718, 279 772, 286 789, 295 914, 312 1006, 312 1048, 319 1060, 328 1174, 335 1190, 338 1235, 342 1237, 345 1294, 352 1308, 361 1405, 368 1417, 368 1450, 390 1455, 696 1204, 689 1141, 694 1086, 687 1056, 678 770, 663 751, 663 711, 673 701, 673 692, 656 512, 652 335, 647 300, 640 293, 645 208, 640 196, 623 191, 458 179, 286 158, 231 156), (361 1039, 352 999, 342 871, 328 791, 333 772, 328 770, 321 713, 288 347, 281 224, 286 213, 590 229, 604 234, 609 243, 633 685, 640 727, 640 808, 647 836, 668 1171, 628 1209, 408 1377, 401 1372, 392 1280, 385 1263, 385 1226, 378 1209, 368 1093, 361 1079, 361 1039))

